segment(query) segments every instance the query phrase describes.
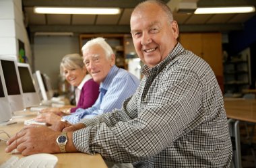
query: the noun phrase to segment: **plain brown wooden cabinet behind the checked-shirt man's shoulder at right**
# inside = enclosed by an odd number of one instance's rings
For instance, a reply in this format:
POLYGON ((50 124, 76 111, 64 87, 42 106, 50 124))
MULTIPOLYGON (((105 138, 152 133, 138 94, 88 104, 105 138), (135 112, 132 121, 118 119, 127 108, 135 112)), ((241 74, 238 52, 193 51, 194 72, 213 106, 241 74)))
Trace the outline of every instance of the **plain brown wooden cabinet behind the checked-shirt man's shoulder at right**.
POLYGON ((181 33, 179 41, 184 48, 203 58, 212 67, 223 93, 222 34, 181 33))

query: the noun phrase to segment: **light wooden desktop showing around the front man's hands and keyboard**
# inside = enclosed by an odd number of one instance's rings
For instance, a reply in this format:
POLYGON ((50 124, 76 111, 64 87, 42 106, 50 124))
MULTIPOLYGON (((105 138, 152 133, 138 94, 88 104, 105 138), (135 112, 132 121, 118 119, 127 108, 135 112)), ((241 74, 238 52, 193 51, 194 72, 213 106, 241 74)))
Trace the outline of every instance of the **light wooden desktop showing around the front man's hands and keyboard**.
MULTIPOLYGON (((23 116, 15 116, 13 118, 14 121, 18 122, 17 124, 11 124, 9 126, 0 126, 0 130, 5 130, 11 136, 16 132, 21 130, 24 127, 24 120, 28 120, 31 118, 35 118, 35 112, 17 112, 16 115, 23 116)), ((0 134, 1 138, 7 138, 5 134, 0 134)), ((0 142, 0 165, 4 163, 7 159, 11 157, 12 154, 5 153, 5 142, 0 142)), ((23 157, 20 154, 16 154, 18 157, 23 157)), ((88 155, 85 153, 59 153, 55 154, 58 157, 57 167, 95 167, 95 168, 106 168, 106 164, 104 160, 99 154, 96 155, 88 155)))

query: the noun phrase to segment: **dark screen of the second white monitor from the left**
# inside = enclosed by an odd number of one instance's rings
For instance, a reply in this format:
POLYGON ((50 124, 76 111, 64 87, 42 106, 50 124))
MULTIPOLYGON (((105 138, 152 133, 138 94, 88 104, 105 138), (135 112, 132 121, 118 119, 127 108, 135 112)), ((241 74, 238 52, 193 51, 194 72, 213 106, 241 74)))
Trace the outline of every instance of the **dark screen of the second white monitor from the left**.
POLYGON ((5 77, 7 94, 20 95, 20 87, 15 70, 15 63, 11 60, 1 60, 1 65, 3 69, 3 76, 5 77))

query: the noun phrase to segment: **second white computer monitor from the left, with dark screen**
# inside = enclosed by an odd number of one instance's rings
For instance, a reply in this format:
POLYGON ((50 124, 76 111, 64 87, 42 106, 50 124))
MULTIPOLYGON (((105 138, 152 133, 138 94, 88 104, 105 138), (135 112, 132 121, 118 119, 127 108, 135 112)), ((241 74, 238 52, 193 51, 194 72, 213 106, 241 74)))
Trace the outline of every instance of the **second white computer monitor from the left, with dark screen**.
POLYGON ((4 56, 0 56, 0 61, 11 112, 24 110, 22 86, 20 83, 17 62, 13 57, 4 56))

